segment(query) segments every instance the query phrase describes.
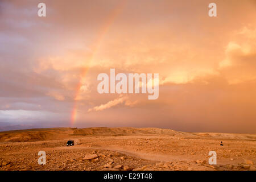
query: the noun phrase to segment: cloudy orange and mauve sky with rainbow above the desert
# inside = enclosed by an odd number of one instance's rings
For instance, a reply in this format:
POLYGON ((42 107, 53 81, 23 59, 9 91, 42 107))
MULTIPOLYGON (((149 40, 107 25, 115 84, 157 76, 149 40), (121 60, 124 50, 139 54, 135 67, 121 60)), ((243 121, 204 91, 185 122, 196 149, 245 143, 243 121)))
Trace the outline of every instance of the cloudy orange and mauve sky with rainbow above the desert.
POLYGON ((35 127, 256 133, 256 1, 1 0, 0 130, 35 127), (98 93, 111 68, 158 99, 98 93))

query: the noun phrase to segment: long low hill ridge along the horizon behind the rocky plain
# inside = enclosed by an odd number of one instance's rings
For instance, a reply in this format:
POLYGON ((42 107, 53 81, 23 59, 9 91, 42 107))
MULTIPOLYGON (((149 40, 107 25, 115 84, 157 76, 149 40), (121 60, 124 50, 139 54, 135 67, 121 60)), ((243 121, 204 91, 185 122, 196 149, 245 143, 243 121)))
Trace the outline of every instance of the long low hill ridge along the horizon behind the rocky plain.
POLYGON ((253 134, 225 134, 225 133, 186 133, 170 129, 132 128, 132 127, 92 127, 30 129, 0 132, 0 142, 33 142, 42 140, 56 140, 81 137, 86 135, 125 136, 125 135, 172 135, 180 138, 216 138, 216 139, 249 139, 256 140, 253 134))

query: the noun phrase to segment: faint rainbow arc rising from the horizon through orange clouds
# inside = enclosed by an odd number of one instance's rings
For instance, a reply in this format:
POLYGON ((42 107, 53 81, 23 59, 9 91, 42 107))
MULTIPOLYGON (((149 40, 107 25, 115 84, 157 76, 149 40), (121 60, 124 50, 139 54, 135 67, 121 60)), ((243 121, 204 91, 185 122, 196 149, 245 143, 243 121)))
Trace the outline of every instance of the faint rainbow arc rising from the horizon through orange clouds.
MULTIPOLYGON (((102 26, 102 30, 100 31, 100 35, 96 39, 96 43, 94 44, 92 48, 92 54, 89 57, 89 63, 94 59, 94 55, 96 55, 98 48, 101 46, 102 40, 104 39, 104 36, 106 35, 106 32, 108 32, 110 26, 114 22, 114 20, 117 18, 117 16, 121 13, 123 7, 125 6, 125 3, 127 0, 122 0, 118 3, 118 5, 115 7, 115 9, 110 13, 108 18, 106 18, 106 21, 104 23, 104 26, 102 26)), ((77 110, 78 110, 78 102, 79 102, 79 96, 80 96, 80 88, 82 86, 82 79, 85 78, 86 73, 88 73, 89 68, 84 68, 82 69, 79 84, 77 84, 76 91, 75 91, 75 96, 73 98, 74 104, 72 107, 72 112, 71 112, 71 126, 74 125, 77 119, 77 110)))

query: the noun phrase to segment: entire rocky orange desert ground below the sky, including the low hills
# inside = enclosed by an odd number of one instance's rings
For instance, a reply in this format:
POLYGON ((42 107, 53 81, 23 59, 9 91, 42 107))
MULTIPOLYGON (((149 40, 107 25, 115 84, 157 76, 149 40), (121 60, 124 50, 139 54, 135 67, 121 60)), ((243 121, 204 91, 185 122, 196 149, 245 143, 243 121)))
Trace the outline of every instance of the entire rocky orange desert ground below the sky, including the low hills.
POLYGON ((0 133, 0 170, 256 170, 256 134, 156 128, 54 128, 0 133), (66 146, 74 140, 75 146, 66 146), (224 146, 220 146, 220 141, 224 146), (38 164, 39 151, 46 164, 38 164), (209 151, 217 164, 210 165, 209 151))

